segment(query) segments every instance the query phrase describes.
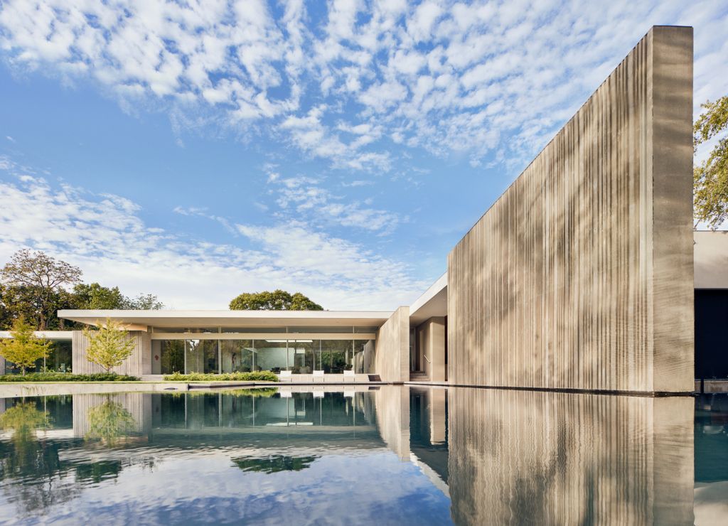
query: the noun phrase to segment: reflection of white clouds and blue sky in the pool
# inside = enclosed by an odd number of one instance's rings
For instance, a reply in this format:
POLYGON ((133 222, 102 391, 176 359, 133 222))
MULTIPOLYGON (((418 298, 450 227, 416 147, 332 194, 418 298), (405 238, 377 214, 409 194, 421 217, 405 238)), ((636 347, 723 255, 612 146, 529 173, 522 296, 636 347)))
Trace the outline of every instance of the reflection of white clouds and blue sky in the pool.
POLYGON ((124 469, 48 517, 77 524, 450 522, 446 496, 416 466, 382 451, 325 456, 274 474, 240 471, 221 453, 182 454, 154 472, 124 469))

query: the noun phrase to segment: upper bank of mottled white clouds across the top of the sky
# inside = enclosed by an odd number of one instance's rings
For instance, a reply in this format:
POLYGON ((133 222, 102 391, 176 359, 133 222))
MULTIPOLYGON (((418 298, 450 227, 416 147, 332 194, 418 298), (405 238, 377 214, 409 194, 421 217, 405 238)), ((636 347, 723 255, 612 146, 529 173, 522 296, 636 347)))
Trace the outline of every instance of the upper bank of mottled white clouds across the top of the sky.
POLYGON ((696 109, 728 91, 728 10, 713 0, 325 9, 7 0, 0 49, 20 71, 95 79, 124 107, 146 97, 236 129, 254 123, 348 170, 391 170, 391 148, 407 147, 528 160, 653 23, 695 25, 696 109), (378 132, 347 138, 342 124, 378 132))

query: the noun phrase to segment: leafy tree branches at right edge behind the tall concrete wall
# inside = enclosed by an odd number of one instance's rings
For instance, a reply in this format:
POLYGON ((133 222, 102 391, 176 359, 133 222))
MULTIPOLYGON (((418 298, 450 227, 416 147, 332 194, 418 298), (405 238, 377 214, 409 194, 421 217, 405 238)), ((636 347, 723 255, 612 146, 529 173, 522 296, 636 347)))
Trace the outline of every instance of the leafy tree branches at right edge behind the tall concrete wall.
MULTIPOLYGON (((728 96, 701 107, 705 112, 693 127, 696 148, 728 129, 728 96)), ((717 228, 728 219, 728 135, 718 141, 703 164, 695 167, 693 181, 695 218, 717 228)))

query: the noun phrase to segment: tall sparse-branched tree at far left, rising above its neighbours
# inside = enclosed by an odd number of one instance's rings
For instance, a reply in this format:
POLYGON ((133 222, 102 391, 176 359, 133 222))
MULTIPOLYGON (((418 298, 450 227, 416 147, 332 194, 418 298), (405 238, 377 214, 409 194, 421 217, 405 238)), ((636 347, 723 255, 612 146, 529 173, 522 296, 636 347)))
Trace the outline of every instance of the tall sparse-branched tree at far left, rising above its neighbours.
POLYGON ((5 284, 27 287, 25 292, 36 309, 39 330, 47 329, 48 319, 54 316, 61 287, 80 282, 81 275, 76 266, 28 249, 15 252, 9 263, 0 268, 0 279, 5 284))

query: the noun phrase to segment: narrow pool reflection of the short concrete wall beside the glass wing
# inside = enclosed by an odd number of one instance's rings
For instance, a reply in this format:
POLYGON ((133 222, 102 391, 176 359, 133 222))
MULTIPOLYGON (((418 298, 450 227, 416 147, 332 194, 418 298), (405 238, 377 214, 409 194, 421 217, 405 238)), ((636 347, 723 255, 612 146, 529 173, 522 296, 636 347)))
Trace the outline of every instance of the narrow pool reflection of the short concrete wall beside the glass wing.
POLYGON ((409 388, 381 386, 374 392, 376 426, 387 447, 403 461, 409 460, 409 388))

